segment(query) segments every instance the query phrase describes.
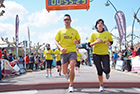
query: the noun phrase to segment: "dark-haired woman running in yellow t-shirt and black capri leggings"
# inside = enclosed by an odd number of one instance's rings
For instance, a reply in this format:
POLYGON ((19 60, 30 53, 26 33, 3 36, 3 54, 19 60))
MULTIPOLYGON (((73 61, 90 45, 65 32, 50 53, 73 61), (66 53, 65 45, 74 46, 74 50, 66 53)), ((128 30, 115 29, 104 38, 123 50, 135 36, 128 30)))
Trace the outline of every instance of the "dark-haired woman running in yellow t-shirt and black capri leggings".
POLYGON ((104 21, 99 19, 95 25, 97 31, 93 32, 88 39, 89 46, 93 47, 93 60, 98 73, 100 84, 99 91, 104 91, 103 72, 106 78, 109 79, 110 73, 110 58, 108 46, 113 44, 113 39, 108 31, 104 30, 104 21))

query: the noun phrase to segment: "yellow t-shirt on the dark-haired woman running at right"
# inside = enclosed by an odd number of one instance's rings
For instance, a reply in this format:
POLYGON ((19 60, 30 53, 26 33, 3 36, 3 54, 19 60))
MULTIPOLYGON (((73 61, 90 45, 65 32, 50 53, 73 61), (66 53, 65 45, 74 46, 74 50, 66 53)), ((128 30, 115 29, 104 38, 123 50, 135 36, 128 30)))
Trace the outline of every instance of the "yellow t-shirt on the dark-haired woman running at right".
POLYGON ((97 43, 93 47, 93 53, 98 55, 108 55, 108 46, 106 45, 107 40, 113 42, 112 36, 108 31, 103 31, 101 33, 94 31, 88 39, 88 42, 95 42, 98 38, 102 39, 101 43, 97 43))

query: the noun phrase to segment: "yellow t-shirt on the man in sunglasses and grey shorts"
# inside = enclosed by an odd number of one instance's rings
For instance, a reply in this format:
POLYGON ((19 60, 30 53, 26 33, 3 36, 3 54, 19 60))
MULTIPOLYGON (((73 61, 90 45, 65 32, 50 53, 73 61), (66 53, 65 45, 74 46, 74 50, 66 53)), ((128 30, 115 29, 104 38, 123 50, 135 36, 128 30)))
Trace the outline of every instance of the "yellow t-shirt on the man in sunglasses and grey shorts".
POLYGON ((66 53, 76 52, 76 44, 74 40, 80 40, 80 36, 77 30, 74 28, 62 28, 55 36, 55 40, 60 42, 60 45, 67 49, 66 53))

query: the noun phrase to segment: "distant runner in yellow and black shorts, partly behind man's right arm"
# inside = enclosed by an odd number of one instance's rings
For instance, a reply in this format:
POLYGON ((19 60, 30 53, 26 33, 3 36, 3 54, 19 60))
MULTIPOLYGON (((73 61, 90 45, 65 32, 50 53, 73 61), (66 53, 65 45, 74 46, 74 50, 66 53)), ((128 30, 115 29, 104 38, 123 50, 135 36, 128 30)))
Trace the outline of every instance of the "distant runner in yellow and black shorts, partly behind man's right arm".
POLYGON ((54 51, 54 54, 56 57, 56 68, 57 68, 57 71, 59 72, 59 76, 61 76, 61 59, 60 59, 61 51, 56 49, 54 51))

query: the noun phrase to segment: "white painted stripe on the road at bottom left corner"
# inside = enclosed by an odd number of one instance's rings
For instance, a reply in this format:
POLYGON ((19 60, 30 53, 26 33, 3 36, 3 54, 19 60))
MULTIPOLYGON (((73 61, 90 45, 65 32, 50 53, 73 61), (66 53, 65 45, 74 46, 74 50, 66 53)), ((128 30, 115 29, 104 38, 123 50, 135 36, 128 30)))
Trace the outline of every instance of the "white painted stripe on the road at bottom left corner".
POLYGON ((37 90, 26 90, 26 91, 10 91, 10 92, 1 92, 0 94, 36 94, 37 90))

